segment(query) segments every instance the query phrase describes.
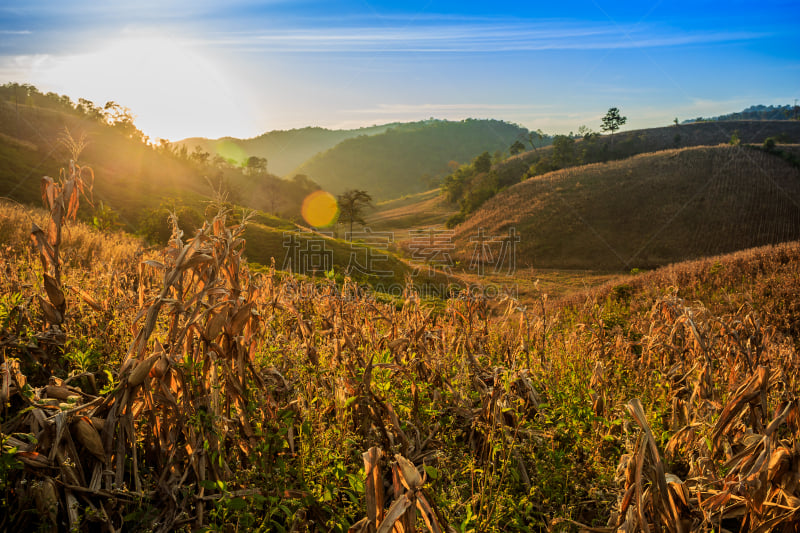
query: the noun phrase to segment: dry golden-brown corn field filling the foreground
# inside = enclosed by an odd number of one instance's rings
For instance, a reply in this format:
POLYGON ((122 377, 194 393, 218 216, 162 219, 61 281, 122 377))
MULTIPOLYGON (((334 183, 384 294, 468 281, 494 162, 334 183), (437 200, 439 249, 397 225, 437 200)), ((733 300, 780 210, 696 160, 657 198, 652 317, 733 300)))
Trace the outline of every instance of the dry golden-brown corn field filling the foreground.
POLYGON ((254 272, 222 204, 87 262, 90 191, 0 228, 0 529, 800 531, 797 243, 394 305, 254 272))

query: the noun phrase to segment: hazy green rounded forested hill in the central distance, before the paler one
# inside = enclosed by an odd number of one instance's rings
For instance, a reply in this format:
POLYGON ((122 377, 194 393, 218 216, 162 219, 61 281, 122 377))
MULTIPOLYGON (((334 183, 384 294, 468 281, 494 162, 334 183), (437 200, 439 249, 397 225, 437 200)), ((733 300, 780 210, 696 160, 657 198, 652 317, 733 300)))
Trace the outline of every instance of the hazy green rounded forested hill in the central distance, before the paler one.
POLYGON ((452 171, 451 161, 467 162, 485 151, 503 152, 527 132, 499 120, 402 124, 380 135, 343 141, 293 174, 305 174, 333 193, 364 189, 375 199, 396 198, 429 189, 452 171))

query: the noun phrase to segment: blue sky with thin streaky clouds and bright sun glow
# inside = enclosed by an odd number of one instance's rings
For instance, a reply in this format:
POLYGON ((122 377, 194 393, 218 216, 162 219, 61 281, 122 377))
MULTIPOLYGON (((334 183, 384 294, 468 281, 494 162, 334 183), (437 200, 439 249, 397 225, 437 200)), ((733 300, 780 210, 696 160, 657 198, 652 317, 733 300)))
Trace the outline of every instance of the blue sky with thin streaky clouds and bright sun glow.
POLYGON ((26 0, 0 83, 129 107, 151 138, 427 118, 623 129, 800 98, 800 2, 26 0))

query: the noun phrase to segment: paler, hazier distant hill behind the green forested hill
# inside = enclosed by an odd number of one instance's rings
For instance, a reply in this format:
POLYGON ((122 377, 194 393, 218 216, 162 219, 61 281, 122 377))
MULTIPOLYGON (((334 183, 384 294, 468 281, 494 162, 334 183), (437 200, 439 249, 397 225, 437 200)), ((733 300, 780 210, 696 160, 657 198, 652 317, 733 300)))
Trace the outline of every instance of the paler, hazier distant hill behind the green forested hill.
POLYGON ((212 157, 220 155, 236 163, 244 163, 250 156, 262 157, 267 160, 269 172, 291 178, 294 174, 288 176, 287 174, 314 155, 346 139, 359 135, 377 135, 396 125, 383 124, 355 130, 329 130, 318 127, 276 130, 252 139, 190 137, 175 144, 186 146, 189 152, 199 146, 212 157))

